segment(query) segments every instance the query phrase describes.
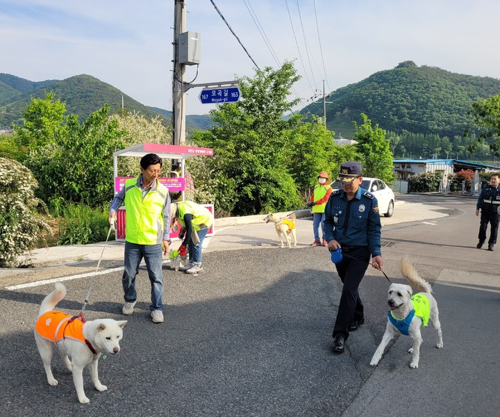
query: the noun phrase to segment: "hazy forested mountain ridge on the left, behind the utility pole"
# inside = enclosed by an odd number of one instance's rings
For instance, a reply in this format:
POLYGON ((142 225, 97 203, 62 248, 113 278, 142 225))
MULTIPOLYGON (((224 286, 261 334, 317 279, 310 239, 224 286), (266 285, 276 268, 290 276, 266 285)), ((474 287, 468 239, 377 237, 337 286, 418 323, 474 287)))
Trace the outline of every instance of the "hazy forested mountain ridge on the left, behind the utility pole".
MULTIPOLYGON (((81 121, 104 104, 110 104, 111 112, 117 112, 122 107, 122 102, 129 111, 147 117, 159 115, 165 118, 166 123, 169 123, 172 117, 172 112, 144 106, 113 85, 103 83, 90 75, 82 74, 64 80, 33 82, 11 74, 0 74, 0 126, 19 124, 22 121, 22 112, 30 104, 31 97, 42 99, 45 97, 45 92, 53 92, 56 99, 65 102, 67 113, 78 115, 81 121)), ((210 125, 211 122, 207 116, 194 115, 186 117, 186 124, 189 129, 205 129, 199 126, 210 125), (193 120, 192 124, 190 118, 193 120)))

